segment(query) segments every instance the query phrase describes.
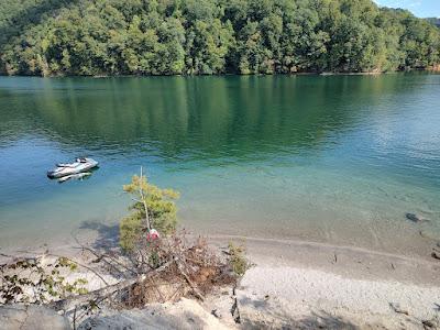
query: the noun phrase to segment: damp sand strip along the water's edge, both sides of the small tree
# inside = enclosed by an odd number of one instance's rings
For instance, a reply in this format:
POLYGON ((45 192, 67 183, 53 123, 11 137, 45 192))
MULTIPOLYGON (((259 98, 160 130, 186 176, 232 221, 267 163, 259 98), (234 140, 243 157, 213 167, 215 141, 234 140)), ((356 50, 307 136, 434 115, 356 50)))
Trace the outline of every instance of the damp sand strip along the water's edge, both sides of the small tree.
MULTIPOLYGON (((398 280, 440 287, 440 261, 430 255, 431 250, 427 250, 425 255, 406 255, 362 246, 340 245, 297 238, 261 238, 229 234, 198 235, 193 232, 187 234, 189 240, 198 237, 206 239, 209 245, 220 251, 226 250, 230 241, 235 244, 242 244, 246 249, 246 255, 250 261, 257 265, 280 265, 323 271, 354 279, 398 280)), ((77 239, 82 245, 97 250, 113 250, 119 248, 117 237, 107 238, 108 241, 101 242, 94 234, 86 233, 85 237, 77 239)), ((430 245, 427 244, 427 246, 430 245)), ((433 246, 435 244, 432 244, 433 246)), ((9 255, 38 254, 46 250, 75 257, 78 256, 81 248, 74 239, 64 240, 63 243, 53 241, 45 244, 21 248, 0 246, 0 252, 9 255)))

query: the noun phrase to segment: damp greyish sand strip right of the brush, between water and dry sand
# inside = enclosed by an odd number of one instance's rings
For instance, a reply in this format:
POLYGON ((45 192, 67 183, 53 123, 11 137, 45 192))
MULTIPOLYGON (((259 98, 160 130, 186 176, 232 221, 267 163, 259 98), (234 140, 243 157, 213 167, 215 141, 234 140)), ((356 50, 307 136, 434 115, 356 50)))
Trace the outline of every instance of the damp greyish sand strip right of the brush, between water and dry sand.
POLYGON ((244 242, 250 260, 257 265, 316 270, 352 279, 397 280, 440 287, 440 261, 430 255, 422 258, 301 240, 208 237, 208 241, 218 248, 224 246, 230 239, 235 243, 244 242))

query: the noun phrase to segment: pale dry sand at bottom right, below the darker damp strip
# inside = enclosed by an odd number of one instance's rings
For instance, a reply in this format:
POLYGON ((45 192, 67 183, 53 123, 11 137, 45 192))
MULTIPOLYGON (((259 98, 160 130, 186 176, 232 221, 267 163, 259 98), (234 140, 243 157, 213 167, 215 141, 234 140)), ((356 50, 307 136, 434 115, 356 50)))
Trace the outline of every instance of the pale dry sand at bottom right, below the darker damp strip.
POLYGON ((256 266, 244 276, 237 296, 245 326, 417 329, 438 317, 440 287, 256 266))

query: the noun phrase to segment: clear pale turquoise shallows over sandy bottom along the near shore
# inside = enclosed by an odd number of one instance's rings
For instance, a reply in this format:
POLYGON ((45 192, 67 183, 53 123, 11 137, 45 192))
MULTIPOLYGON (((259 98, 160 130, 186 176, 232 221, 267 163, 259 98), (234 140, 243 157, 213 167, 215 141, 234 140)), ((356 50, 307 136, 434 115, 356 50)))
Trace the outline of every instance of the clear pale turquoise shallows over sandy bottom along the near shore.
MULTIPOLYGON (((310 165, 154 170, 151 177, 182 193, 180 227, 196 234, 299 239, 400 254, 427 254, 427 246, 440 241, 436 191, 386 177, 310 165), (430 219, 415 223, 406 212, 430 219)), ((114 187, 129 180, 130 173, 119 173, 105 183, 72 182, 65 188, 84 191, 54 196, 51 204, 29 202, 13 212, 3 207, 1 219, 9 221, 2 223, 2 246, 68 243, 73 235, 89 234, 112 241, 130 204, 114 187)))

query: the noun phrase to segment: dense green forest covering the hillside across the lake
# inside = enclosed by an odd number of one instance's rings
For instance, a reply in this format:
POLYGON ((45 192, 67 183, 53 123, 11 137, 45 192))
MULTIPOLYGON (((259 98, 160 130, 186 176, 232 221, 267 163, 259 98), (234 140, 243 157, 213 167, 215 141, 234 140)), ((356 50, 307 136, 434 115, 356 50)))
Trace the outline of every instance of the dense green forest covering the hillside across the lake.
POLYGON ((361 73, 440 63, 440 30, 371 0, 0 0, 2 75, 361 73))

